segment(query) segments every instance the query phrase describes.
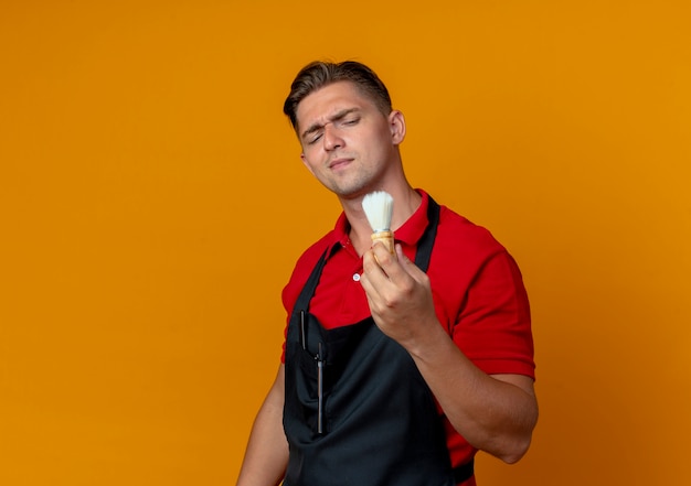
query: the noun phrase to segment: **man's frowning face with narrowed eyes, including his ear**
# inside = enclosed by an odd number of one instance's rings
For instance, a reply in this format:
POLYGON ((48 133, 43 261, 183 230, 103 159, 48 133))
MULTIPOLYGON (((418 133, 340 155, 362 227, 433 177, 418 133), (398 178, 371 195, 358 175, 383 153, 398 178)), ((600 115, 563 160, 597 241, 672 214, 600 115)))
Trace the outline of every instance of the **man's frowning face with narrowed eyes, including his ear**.
POLYGON ((384 116, 350 82, 311 93, 297 108, 297 130, 309 171, 341 197, 382 188, 405 134, 400 111, 384 116))

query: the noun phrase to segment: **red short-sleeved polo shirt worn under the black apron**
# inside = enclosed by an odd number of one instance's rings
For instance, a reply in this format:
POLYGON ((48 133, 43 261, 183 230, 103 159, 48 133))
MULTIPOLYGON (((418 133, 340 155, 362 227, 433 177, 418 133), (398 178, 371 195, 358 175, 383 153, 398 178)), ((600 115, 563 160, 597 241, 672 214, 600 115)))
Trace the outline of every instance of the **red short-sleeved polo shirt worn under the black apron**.
MULTIPOLYGON (((418 192, 423 196, 421 206, 394 235, 413 261, 417 241, 427 227, 428 196, 424 191, 418 192)), ((341 214, 333 230, 298 259, 283 291, 288 320, 327 248, 330 256, 310 302, 310 313, 326 328, 354 324, 370 316, 359 282, 362 258, 350 242, 348 231, 348 220, 341 214)), ((427 276, 437 318, 478 368, 488 375, 517 374, 534 378, 530 309, 521 273, 513 258, 487 229, 442 206, 427 276)), ((476 450, 448 420, 444 421, 453 466, 467 463, 476 450)), ((471 485, 474 480, 466 484, 471 485)))

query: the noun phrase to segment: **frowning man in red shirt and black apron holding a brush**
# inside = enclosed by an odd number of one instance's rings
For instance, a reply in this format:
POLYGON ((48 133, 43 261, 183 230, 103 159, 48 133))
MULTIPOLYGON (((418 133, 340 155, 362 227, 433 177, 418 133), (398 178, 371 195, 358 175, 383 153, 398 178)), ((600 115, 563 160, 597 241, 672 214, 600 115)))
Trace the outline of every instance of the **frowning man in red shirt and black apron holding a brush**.
POLYGON ((284 289, 283 364, 238 486, 470 486, 477 450, 518 461, 538 406, 512 258, 408 184, 405 119, 369 67, 309 64, 284 111, 343 214, 284 289), (394 198, 395 255, 372 245, 373 191, 394 198))

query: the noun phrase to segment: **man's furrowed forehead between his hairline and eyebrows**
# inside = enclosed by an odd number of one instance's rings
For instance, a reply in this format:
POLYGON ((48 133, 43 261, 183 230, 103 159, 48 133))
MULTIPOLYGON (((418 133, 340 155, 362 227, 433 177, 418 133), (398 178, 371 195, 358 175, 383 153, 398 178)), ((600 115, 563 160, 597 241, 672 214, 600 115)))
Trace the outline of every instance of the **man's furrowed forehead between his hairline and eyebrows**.
POLYGON ((337 82, 307 95, 296 110, 298 127, 326 121, 329 116, 351 108, 376 109, 374 101, 351 82, 337 82))

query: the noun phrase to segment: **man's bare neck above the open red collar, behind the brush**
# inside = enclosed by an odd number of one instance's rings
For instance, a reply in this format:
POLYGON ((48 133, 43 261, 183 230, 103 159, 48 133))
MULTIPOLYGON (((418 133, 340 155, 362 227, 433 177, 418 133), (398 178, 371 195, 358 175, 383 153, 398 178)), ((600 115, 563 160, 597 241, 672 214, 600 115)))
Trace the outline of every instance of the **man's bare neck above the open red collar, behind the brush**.
MULTIPOLYGON (((413 190, 407 183, 400 187, 382 187, 393 196, 393 216, 391 218, 391 229, 395 233, 419 207, 422 196, 413 190)), ((364 195, 352 198, 342 199, 341 205, 350 224, 350 240, 358 251, 358 255, 364 253, 372 246, 372 228, 362 209, 362 198, 364 195)))

